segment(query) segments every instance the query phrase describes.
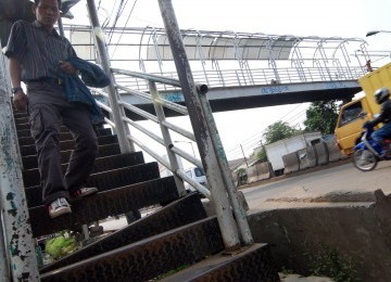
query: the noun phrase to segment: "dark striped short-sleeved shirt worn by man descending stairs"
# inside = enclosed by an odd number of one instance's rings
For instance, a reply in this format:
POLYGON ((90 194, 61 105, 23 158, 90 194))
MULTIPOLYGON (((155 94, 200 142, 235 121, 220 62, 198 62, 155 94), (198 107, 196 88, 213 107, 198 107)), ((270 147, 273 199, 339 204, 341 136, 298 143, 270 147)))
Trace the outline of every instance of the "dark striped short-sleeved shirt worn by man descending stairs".
POLYGON ((12 26, 5 55, 17 59, 22 66, 22 81, 28 81, 58 77, 59 61, 74 57, 76 52, 55 29, 48 34, 39 22, 21 20, 12 26))

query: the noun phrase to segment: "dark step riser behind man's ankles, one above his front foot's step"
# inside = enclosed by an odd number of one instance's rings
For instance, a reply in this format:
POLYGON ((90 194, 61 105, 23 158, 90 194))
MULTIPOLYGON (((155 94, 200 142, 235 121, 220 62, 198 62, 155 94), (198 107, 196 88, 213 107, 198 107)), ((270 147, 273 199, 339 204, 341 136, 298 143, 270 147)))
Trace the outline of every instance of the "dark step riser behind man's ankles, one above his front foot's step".
MULTIPOLYGON (((104 170, 112 170, 121 167, 126 166, 134 166, 143 164, 143 155, 142 152, 135 152, 135 153, 126 153, 119 155, 112 155, 112 156, 104 156, 98 157, 93 164, 93 174, 102 172, 104 170)), ((63 164, 63 172, 65 172, 68 164, 63 164)), ((38 168, 33 169, 25 169, 22 171, 23 175, 23 182, 25 188, 39 185, 40 183, 40 176, 38 168)))

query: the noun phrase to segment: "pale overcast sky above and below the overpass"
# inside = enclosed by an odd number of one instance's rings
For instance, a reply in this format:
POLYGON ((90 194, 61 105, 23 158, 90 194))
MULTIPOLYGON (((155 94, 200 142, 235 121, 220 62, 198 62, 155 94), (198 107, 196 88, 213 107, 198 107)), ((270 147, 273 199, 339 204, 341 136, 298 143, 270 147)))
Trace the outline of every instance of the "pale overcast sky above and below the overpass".
MULTIPOLYGON (((98 5, 99 1, 96 2, 98 5)), ((101 1, 104 10, 101 10, 100 17, 109 16, 114 9, 108 5, 117 3, 119 0, 101 1)), ((84 5, 85 1, 80 1, 72 10, 77 18, 77 22, 72 21, 73 24, 86 21, 84 5)), ((368 50, 391 50, 391 34, 365 37, 369 30, 391 30, 390 0, 173 0, 173 5, 181 29, 358 37, 368 42, 368 50)), ((123 18, 128 15, 127 26, 164 27, 157 0, 128 0, 123 18)), ((257 140, 268 125, 279 119, 298 118, 304 114, 305 107, 305 104, 295 104, 237 111, 235 114, 216 113, 215 120, 228 158, 229 152, 239 144, 257 140)))

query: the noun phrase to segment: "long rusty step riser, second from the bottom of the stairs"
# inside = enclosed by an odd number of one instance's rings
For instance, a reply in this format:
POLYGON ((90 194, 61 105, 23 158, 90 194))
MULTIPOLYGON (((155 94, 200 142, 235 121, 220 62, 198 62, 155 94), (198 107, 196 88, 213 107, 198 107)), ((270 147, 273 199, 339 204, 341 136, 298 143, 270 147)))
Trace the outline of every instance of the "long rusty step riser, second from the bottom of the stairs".
POLYGON ((215 217, 116 248, 40 277, 41 281, 148 281, 222 252, 215 217))

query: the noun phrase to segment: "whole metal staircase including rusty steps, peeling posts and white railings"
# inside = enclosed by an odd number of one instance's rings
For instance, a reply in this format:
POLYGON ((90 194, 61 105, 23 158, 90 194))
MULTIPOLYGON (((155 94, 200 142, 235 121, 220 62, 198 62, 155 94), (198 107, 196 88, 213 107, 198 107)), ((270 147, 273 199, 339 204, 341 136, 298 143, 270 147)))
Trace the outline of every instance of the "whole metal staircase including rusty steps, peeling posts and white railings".
MULTIPOLYGON (((93 90, 100 99, 98 104, 105 112, 108 128, 98 129, 99 157, 86 185, 97 187, 99 192, 73 201, 70 215, 51 219, 42 206, 36 150, 29 136, 27 116, 11 108, 7 67, 0 54, 3 221, 0 239, 5 242, 5 247, 0 244, 2 277, 5 281, 7 278, 13 281, 278 281, 269 245, 253 242, 205 98, 207 87, 192 80, 171 2, 160 0, 167 36, 174 42, 172 48, 179 80, 119 70, 119 75, 143 79, 149 86, 148 92, 115 82, 114 74, 118 69, 110 67, 104 37, 99 36, 101 29, 94 1, 88 0, 87 4, 102 67, 113 75, 113 82, 106 92, 93 90), (164 100, 156 84, 181 88, 187 106, 164 100), (150 100, 155 115, 121 101, 118 89, 150 100), (164 111, 167 108, 188 115, 192 130, 168 123, 164 111), (157 124, 162 137, 131 120, 129 111, 157 124), (163 145, 168 162, 155 153, 153 146, 146 144, 149 142, 131 134, 130 127, 163 145), (176 148, 171 131, 197 142, 201 162, 176 148), (137 152, 135 144, 156 162, 146 163, 143 153, 137 152), (187 177, 178 158, 203 167, 209 187, 187 177), (157 163, 172 176, 161 177, 157 163), (200 194, 185 192, 184 180, 213 204, 214 216, 206 215, 200 194), (157 207, 153 214, 38 269, 34 239, 65 229, 83 232, 88 238, 88 225, 110 216, 135 215, 135 210, 150 206, 157 207), (185 269, 168 274, 179 268, 185 269)), ((73 144, 70 132, 62 128, 60 146, 64 169, 73 144)))

